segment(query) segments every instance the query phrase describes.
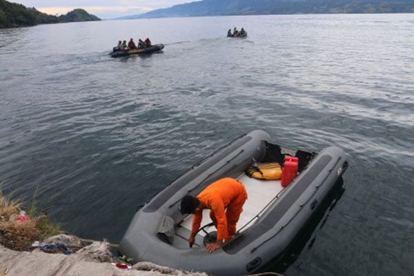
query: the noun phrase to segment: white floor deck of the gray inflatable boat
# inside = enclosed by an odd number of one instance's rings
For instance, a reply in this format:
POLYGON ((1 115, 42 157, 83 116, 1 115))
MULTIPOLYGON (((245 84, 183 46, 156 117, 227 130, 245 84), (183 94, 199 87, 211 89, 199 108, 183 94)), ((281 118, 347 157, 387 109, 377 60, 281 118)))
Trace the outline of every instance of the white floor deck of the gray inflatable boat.
MULTIPOLYGON (((259 180, 255 178, 250 178, 246 174, 239 175, 237 179, 244 184, 248 199, 243 206, 243 212, 240 215, 240 219, 237 222, 237 230, 246 226, 246 224, 253 224, 255 217, 260 213, 261 210, 266 208, 266 205, 275 198, 279 193, 284 190, 284 187, 280 184, 280 180, 259 180)), ((210 219, 210 210, 205 209, 203 211, 203 220, 201 221, 201 226, 209 224, 210 219)), ((193 221, 193 215, 189 215, 181 223, 181 226, 191 231, 191 225, 193 221)), ((206 229, 208 232, 215 230, 215 227, 212 226, 212 229, 206 229)), ((248 226, 244 227, 244 230, 248 226)), ((199 235, 206 235, 203 231, 199 232, 199 235)))

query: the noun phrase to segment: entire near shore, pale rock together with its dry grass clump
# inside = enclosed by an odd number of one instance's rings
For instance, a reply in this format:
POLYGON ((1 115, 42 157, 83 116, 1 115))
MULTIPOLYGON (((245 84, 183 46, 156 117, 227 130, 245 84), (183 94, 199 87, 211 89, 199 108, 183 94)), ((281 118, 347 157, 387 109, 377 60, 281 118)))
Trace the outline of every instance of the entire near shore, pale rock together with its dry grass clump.
POLYGON ((150 262, 135 264, 119 256, 118 244, 70 235, 37 212, 35 205, 28 213, 21 206, 21 201, 4 197, 0 190, 0 276, 208 276, 150 262))

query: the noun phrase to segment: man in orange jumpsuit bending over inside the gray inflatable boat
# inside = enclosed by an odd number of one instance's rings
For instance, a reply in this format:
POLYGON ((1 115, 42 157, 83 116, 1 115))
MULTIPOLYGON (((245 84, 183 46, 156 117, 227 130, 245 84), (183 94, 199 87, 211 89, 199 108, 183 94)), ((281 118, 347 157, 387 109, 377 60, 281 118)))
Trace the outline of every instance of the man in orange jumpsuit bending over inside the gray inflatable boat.
POLYGON ((203 219, 203 210, 210 209, 210 218, 217 228, 217 241, 206 244, 208 252, 220 248, 236 232, 236 224, 247 199, 246 189, 236 179, 226 177, 215 181, 201 191, 197 197, 186 195, 181 200, 181 214, 194 214, 191 235, 188 244, 193 246, 195 235, 203 219))

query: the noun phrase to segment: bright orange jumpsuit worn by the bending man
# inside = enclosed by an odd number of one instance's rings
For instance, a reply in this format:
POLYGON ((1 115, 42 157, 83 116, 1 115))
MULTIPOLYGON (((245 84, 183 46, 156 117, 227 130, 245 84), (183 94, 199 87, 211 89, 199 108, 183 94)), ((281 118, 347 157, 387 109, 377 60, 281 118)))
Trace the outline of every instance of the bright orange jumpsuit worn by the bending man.
MULTIPOLYGON (((197 195, 217 228, 217 240, 227 241, 236 232, 236 224, 247 199, 246 189, 236 179, 226 177, 215 181, 197 195)), ((203 211, 196 210, 191 232, 196 233, 203 219, 203 211)))

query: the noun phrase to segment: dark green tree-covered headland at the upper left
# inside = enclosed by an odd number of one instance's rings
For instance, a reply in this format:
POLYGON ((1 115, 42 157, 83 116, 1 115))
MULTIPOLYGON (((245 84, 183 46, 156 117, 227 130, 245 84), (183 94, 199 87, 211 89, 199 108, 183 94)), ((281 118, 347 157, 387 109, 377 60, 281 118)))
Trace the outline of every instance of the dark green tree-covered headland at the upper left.
POLYGON ((55 17, 54 15, 39 12, 35 8, 26 8, 17 3, 0 0, 0 28, 15 28, 34 26, 46 23, 63 23, 75 21, 98 21, 95 15, 88 14, 86 10, 75 9, 65 15, 55 17))

